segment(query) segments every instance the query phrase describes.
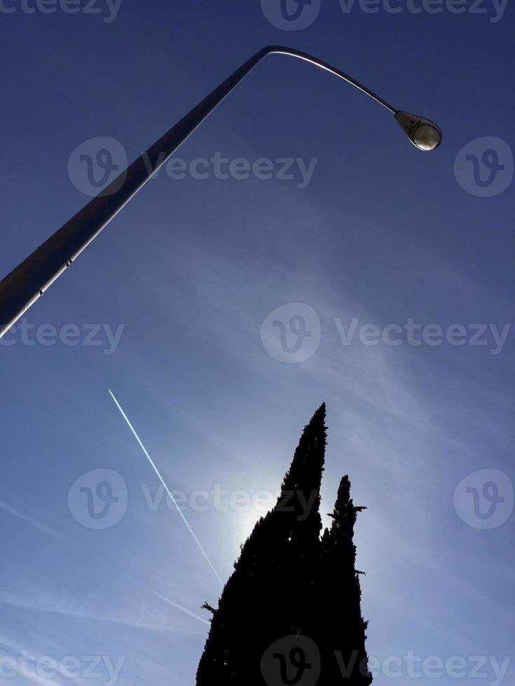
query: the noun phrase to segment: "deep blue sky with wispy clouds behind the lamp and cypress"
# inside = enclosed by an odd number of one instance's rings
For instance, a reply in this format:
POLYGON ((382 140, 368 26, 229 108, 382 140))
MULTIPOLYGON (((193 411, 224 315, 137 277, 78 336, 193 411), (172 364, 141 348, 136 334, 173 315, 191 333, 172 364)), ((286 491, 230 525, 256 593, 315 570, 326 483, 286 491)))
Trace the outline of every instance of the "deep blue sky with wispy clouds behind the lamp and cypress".
POLYGON ((99 14, 1 5, 2 274, 87 202, 78 146, 114 138, 132 160, 268 43, 312 52, 444 130, 438 151, 420 153, 362 93, 268 57, 177 156, 186 168, 217 154, 250 167, 264 158, 274 178, 162 170, 29 311, 25 336, 18 328, 0 346, 2 686, 194 682, 208 630, 200 605, 216 604, 220 584, 159 500, 108 388, 170 489, 186 494, 184 515, 223 580, 260 514, 245 494, 275 493, 325 400, 323 511, 344 473, 369 507, 356 542, 376 683, 514 680, 515 331, 504 328, 514 296, 513 7, 397 5, 368 13, 324 2, 298 31, 270 23, 272 0, 267 11, 258 0, 123 0, 116 17, 102 3, 99 14), (294 179, 275 178, 282 158, 294 160, 294 179), (486 162, 481 183, 472 158, 486 162), (315 160, 304 188, 298 160, 315 160), (315 337, 302 361, 276 359, 280 326, 269 315, 280 307, 288 345, 295 316, 315 337), (408 340, 409 321, 421 344, 408 340), (385 339, 392 324, 400 329, 385 339), (41 343, 53 336, 45 325, 59 342, 41 343), (454 338, 452 325, 463 328, 454 338), (62 342, 69 326, 76 345, 62 342), (85 344, 88 332, 98 345, 85 344), (474 332, 485 344, 472 344, 474 332), (92 528, 79 490, 94 489, 96 470, 121 478, 121 519, 109 528, 92 528), (488 472, 469 476, 478 470, 488 472), (467 486, 481 495, 488 484, 504 497, 497 520, 474 516, 467 498, 467 486), (243 495, 219 506, 202 496, 214 489, 243 495), (459 657, 465 675, 410 676, 410 651, 459 657), (60 669, 29 675, 27 656, 60 669), (474 656, 485 657, 475 678, 474 656), (502 678, 493 657, 507 664, 502 678))

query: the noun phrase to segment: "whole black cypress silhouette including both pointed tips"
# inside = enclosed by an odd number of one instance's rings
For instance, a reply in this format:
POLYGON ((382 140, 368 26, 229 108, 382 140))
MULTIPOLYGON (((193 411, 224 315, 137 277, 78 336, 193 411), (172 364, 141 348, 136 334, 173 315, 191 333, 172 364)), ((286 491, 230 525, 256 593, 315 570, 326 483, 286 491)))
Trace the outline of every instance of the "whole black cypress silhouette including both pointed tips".
MULTIPOLYGON (((342 680, 339 666, 342 660, 348 665, 353 651, 356 664, 366 664, 352 543, 356 513, 363 508, 352 505, 344 477, 333 524, 320 538, 326 435, 322 405, 303 430, 275 507, 242 545, 218 608, 204 605, 212 620, 197 686, 263 686, 263 653, 285 636, 315 640, 324 660, 320 683, 328 686, 342 680)), ((367 686, 370 680, 356 669, 348 683, 367 686)))

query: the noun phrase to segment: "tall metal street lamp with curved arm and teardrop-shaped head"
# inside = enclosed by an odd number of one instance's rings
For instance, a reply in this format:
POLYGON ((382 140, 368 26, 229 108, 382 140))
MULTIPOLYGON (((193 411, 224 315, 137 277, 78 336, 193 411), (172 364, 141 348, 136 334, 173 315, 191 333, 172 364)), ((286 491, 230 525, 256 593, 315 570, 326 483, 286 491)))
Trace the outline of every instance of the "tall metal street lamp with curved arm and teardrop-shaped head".
POLYGON ((109 183, 99 195, 88 202, 62 228, 50 236, 32 255, 29 255, 11 274, 0 281, 0 337, 43 295, 46 289, 71 265, 86 246, 99 235, 104 226, 129 202, 151 176, 162 167, 188 136, 247 76, 263 57, 273 53, 291 55, 333 73, 359 88, 379 104, 390 110, 408 139, 420 150, 430 151, 441 143, 441 130, 432 121, 392 107, 336 67, 305 52, 269 45, 256 52, 224 83, 194 107, 163 137, 143 153, 122 174, 109 183))

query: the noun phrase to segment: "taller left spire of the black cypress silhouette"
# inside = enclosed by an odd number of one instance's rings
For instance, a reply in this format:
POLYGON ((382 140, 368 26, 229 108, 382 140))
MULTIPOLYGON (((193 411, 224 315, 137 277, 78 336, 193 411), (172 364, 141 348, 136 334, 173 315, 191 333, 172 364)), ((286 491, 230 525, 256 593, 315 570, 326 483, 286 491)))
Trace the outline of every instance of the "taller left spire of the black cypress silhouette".
POLYGON ((275 640, 315 624, 325 405, 305 426, 277 504, 261 517, 213 611, 198 686, 262 685, 261 657, 275 640))

